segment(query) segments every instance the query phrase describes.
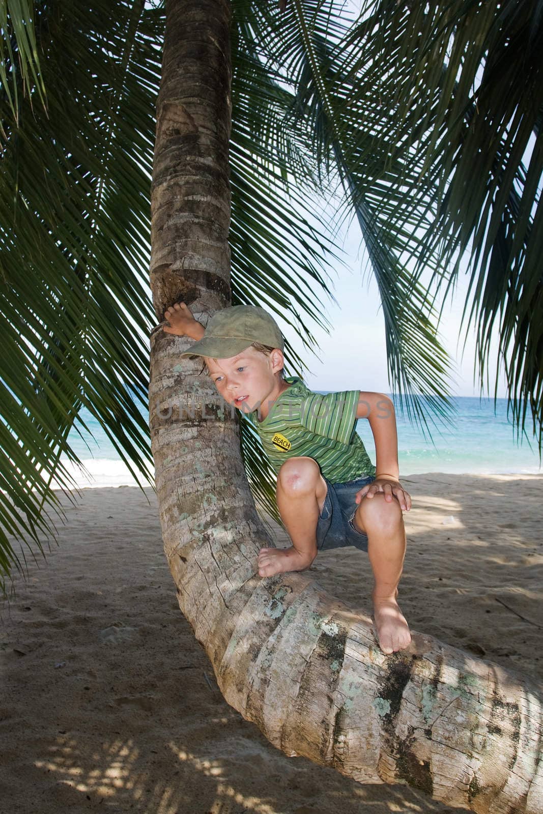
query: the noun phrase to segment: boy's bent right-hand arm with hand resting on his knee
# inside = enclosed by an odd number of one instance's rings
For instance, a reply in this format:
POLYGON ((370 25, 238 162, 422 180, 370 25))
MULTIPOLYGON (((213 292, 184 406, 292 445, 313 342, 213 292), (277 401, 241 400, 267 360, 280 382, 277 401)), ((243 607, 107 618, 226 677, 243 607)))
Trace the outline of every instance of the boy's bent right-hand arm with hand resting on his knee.
POLYGON ((373 497, 376 492, 384 492, 385 500, 392 501, 395 496, 401 508, 409 511, 411 498, 398 480, 398 432, 392 400, 384 393, 361 390, 357 418, 368 419, 375 442, 375 480, 357 492, 357 503, 364 495, 373 497))

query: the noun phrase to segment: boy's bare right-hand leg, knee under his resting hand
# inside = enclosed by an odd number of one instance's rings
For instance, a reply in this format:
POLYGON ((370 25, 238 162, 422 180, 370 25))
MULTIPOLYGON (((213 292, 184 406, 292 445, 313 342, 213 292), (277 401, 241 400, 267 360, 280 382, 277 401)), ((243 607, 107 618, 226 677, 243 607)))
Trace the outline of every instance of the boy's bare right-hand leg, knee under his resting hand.
POLYGON ((411 641, 409 626, 396 602, 405 557, 405 527, 401 506, 382 493, 364 497, 353 524, 368 536, 368 556, 374 572, 374 619, 384 653, 403 650, 411 641))

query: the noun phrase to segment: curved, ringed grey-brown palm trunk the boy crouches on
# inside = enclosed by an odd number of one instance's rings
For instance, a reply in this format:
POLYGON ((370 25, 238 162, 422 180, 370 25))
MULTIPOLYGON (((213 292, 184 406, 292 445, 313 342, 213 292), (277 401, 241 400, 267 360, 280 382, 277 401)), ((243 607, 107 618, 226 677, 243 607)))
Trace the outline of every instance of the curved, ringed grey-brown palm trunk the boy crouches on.
MULTIPOLYGON (((230 7, 169 0, 157 106, 151 284, 205 322, 230 304, 230 7)), ((150 422, 164 551, 226 701, 287 755, 361 782, 406 782, 475 812, 543 811, 541 694, 414 635, 385 655, 370 620, 309 575, 261 579, 270 545, 239 451, 190 341, 151 339, 150 422)), ((273 545, 273 544, 272 544, 273 545)))

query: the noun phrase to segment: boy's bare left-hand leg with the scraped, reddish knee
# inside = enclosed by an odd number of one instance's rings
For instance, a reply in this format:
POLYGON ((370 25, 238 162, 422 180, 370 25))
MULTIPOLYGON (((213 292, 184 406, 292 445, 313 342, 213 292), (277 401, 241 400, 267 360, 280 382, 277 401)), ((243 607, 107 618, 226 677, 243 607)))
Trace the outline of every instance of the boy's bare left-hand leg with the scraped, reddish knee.
POLYGON ((291 457, 279 470, 277 505, 292 545, 288 549, 261 549, 258 573, 304 571, 317 556, 317 522, 326 498, 326 481, 316 461, 291 457))

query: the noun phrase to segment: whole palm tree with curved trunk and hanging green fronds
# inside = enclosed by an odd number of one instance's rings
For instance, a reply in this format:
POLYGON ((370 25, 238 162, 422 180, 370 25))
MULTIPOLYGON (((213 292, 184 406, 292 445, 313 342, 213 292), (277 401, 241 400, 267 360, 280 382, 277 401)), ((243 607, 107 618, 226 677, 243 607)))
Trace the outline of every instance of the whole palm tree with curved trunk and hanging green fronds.
MULTIPOLYGON (((518 426, 528 401, 541 443, 538 141, 528 173, 522 160, 541 124, 532 4, 378 3, 352 24, 334 3, 309 0, 282 10, 169 0, 165 15, 143 2, 118 2, 115 14, 111 3, 74 2, 68 14, 53 2, 37 6, 35 20, 19 8, 24 20, 3 26, 2 336, 11 355, 2 449, 18 467, 4 479, 8 532, 39 539, 48 528, 44 506, 55 497, 40 473, 66 476, 59 454, 71 453, 81 405, 145 473, 146 352, 136 329, 160 322, 169 304, 183 299, 205 322, 230 302, 264 300, 318 322, 304 280, 326 293, 318 252, 333 246, 324 226, 309 225, 304 190, 335 181, 379 279, 391 381, 426 396, 406 408, 419 420, 428 401, 446 413, 435 295, 453 285, 451 261, 473 241, 481 359, 497 324, 518 426), (505 67, 515 77, 521 61, 523 84, 505 97, 505 67), (153 316, 144 190, 160 75, 153 316), (17 274, 23 263, 28 272, 17 274)), ((242 423, 240 435, 217 409, 184 349, 151 334, 155 484, 179 603, 226 700, 287 754, 358 780, 405 781, 477 812, 539 811, 541 704, 528 681, 429 637, 384 656, 367 619, 308 575, 255 577, 267 538, 246 474, 262 505, 273 484, 250 428, 242 423)))

